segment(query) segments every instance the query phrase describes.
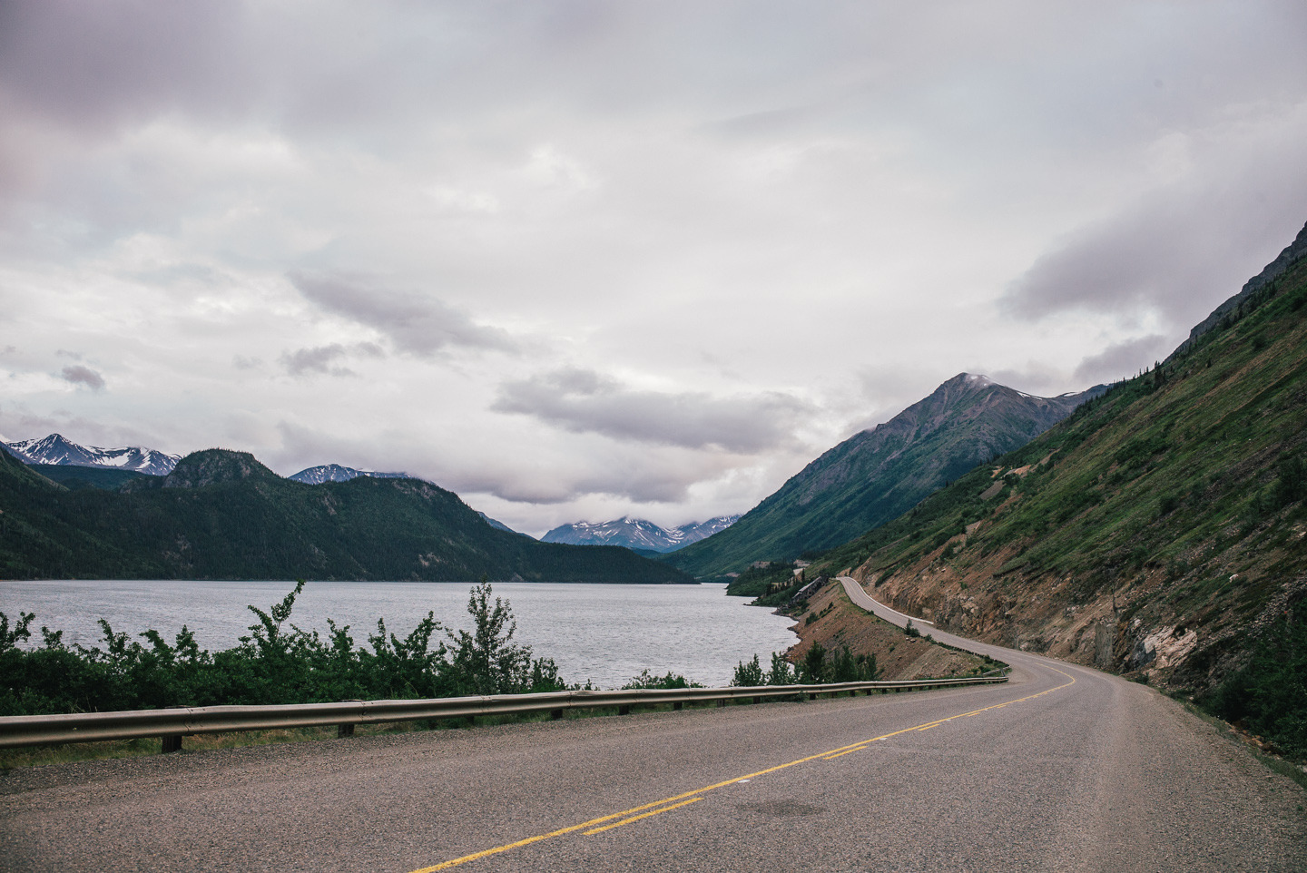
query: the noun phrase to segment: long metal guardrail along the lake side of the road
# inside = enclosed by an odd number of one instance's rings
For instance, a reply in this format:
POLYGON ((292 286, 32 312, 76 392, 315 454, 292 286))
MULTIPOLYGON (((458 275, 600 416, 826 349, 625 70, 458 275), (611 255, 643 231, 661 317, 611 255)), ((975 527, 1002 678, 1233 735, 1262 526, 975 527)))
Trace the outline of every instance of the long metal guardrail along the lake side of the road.
POLYGON ((163 750, 182 748, 182 737, 195 733, 231 731, 274 731, 340 725, 340 734, 353 733, 357 724, 459 719, 478 715, 523 715, 548 711, 555 719, 565 710, 617 707, 626 715, 635 706, 685 703, 741 698, 786 698, 863 691, 908 691, 959 685, 1006 682, 1005 676, 978 676, 955 680, 908 680, 897 682, 834 682, 827 685, 757 685, 723 689, 633 689, 621 691, 549 691, 544 694, 498 694, 425 700, 346 700, 342 703, 298 703, 286 706, 208 706, 127 712, 73 712, 67 715, 17 715, 0 717, 0 748, 56 742, 98 742, 162 737, 163 750))

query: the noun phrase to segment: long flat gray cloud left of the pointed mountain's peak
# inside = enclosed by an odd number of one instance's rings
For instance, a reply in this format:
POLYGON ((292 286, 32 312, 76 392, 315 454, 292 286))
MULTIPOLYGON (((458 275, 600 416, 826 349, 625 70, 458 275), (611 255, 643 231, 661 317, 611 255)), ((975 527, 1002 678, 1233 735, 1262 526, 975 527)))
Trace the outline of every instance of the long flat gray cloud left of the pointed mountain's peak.
POLYGON ((506 382, 490 406, 572 433, 685 448, 753 453, 788 444, 805 401, 780 392, 714 397, 635 391, 591 370, 567 369, 506 382))

